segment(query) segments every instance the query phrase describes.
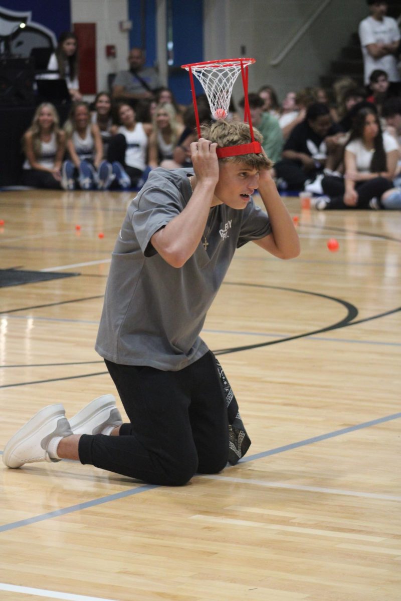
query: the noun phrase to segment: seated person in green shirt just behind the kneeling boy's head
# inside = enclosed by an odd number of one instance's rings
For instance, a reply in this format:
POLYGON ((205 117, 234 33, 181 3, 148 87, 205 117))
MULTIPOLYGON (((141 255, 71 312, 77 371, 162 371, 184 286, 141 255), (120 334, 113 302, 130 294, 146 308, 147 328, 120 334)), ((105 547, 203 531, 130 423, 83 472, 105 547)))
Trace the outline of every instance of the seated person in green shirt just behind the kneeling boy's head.
MULTIPOLYGON (((263 150, 265 150, 269 159, 275 163, 281 158, 284 145, 284 138, 278 120, 270 112, 263 112, 263 100, 259 94, 248 94, 248 103, 252 123, 263 136, 263 150)), ((242 108, 245 106, 245 98, 240 100, 239 106, 242 108)))

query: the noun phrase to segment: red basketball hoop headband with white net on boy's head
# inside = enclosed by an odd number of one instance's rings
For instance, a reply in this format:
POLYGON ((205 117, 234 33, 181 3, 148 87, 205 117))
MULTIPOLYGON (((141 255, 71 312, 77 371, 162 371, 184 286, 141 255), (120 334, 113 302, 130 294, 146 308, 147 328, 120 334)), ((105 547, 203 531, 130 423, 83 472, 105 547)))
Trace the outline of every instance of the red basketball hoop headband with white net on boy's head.
POLYGON ((217 149, 219 159, 239 154, 259 154, 262 152, 260 142, 254 138, 251 112, 248 102, 248 66, 255 63, 254 58, 229 58, 220 61, 206 61, 204 63, 192 63, 182 65, 182 69, 189 72, 191 81, 192 100, 194 102, 195 120, 197 122, 198 136, 201 137, 197 99, 195 95, 194 75, 201 82, 209 100, 210 109, 215 119, 224 119, 228 115, 233 85, 239 73, 242 76, 242 87, 245 96, 243 108, 243 120, 249 124, 251 142, 249 144, 238 144, 237 146, 226 146, 217 149))

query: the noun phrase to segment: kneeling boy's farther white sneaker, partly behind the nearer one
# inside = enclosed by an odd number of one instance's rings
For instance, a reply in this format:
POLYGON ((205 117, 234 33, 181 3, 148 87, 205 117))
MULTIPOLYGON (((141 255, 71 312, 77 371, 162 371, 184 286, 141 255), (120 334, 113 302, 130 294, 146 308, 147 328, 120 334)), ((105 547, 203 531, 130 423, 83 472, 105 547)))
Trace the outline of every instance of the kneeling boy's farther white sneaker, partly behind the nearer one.
POLYGON ((121 426, 123 419, 112 394, 95 398, 70 419, 74 434, 110 434, 121 426))

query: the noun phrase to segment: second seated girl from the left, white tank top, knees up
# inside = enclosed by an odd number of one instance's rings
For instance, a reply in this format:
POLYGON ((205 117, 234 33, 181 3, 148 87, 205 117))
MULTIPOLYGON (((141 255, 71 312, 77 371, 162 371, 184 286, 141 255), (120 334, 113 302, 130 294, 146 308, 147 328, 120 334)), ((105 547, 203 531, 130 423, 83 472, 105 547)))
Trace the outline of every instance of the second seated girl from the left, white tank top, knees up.
POLYGON ((100 130, 96 123, 90 123, 89 106, 86 102, 73 105, 69 120, 64 124, 64 131, 70 159, 63 163, 63 188, 74 190, 78 182, 82 190, 94 187, 105 189, 111 166, 103 160, 100 130))

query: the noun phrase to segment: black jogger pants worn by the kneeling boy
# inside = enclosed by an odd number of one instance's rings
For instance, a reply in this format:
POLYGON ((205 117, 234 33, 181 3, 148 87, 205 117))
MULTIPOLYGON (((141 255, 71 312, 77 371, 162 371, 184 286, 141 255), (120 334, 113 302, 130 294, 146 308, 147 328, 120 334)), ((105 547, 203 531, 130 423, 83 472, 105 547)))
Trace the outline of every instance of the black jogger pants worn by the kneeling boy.
POLYGON ((120 436, 82 435, 81 463, 166 486, 225 467, 227 408, 213 353, 180 371, 105 362, 130 424, 120 436))

